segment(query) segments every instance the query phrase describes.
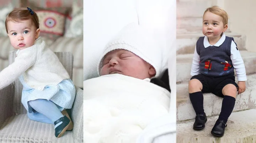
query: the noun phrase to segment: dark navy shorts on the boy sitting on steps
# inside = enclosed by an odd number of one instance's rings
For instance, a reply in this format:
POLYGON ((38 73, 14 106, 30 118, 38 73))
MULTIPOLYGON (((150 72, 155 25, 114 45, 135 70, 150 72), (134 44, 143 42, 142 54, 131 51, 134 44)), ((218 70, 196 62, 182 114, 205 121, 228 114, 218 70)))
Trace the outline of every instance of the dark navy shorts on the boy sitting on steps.
POLYGON ((203 93, 213 93, 214 95, 222 98, 224 97, 224 95, 222 94, 222 89, 225 85, 233 84, 236 86, 236 89, 238 90, 238 85, 235 82, 234 74, 220 76, 220 77, 212 77, 212 76, 207 76, 203 74, 198 74, 198 75, 192 76, 190 80, 192 79, 198 79, 202 83, 203 93))

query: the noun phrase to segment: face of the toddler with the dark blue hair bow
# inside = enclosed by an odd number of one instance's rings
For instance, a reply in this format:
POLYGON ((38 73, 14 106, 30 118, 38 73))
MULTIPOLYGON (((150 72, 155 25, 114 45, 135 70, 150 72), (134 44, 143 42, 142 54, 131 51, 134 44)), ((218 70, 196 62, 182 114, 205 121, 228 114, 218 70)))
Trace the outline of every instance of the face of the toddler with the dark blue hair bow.
POLYGON ((8 21, 7 28, 11 45, 20 50, 32 46, 40 33, 39 28, 37 29, 32 24, 31 19, 21 22, 8 21))

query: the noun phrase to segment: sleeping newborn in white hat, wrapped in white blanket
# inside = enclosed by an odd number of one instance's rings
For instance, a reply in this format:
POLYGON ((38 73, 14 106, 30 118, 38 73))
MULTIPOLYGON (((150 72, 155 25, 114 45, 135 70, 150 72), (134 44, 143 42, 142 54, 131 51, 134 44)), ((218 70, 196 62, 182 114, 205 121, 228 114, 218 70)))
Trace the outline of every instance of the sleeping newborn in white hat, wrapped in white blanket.
POLYGON ((84 81, 85 142, 136 142, 145 127, 168 114, 170 92, 159 82, 163 51, 155 43, 140 26, 128 25, 106 45, 99 77, 84 81))

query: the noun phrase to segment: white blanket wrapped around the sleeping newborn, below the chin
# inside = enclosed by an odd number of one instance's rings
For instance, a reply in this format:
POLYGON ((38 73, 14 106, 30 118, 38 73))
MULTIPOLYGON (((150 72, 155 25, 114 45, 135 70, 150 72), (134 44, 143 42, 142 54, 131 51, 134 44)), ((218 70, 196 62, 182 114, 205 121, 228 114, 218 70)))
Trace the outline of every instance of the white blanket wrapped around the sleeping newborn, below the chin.
POLYGON ((135 143, 151 121, 167 114, 170 92, 121 74, 84 81, 84 141, 135 143))

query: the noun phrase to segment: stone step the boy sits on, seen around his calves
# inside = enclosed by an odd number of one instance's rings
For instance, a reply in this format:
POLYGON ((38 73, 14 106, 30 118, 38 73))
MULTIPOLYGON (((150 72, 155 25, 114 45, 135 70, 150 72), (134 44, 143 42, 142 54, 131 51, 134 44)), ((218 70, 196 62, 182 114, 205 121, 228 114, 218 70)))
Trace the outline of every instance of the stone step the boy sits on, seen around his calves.
MULTIPOLYGON (((237 80, 236 80, 237 82, 237 80)), ((237 95, 233 111, 241 111, 256 108, 256 74, 247 75, 246 90, 237 95)), ((188 82, 176 85, 177 121, 194 119, 195 112, 192 107, 188 82)), ((207 116, 219 115, 222 107, 222 99, 212 93, 204 93, 204 112, 207 116)), ((256 121, 256 120, 255 120, 256 121)))

